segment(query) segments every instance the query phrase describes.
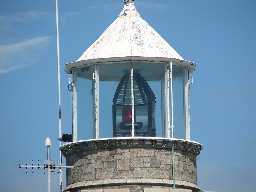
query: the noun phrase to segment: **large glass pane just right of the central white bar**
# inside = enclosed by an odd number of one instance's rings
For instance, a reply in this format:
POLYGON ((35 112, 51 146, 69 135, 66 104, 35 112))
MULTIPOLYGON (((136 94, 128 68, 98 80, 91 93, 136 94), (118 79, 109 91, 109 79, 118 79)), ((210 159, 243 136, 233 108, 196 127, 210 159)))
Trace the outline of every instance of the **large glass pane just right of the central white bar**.
MULTIPOLYGON (((134 62, 135 121, 143 124, 136 136, 162 137, 161 80, 164 80, 165 65, 161 63, 134 62)), ((163 105, 164 106, 164 105, 163 105)))

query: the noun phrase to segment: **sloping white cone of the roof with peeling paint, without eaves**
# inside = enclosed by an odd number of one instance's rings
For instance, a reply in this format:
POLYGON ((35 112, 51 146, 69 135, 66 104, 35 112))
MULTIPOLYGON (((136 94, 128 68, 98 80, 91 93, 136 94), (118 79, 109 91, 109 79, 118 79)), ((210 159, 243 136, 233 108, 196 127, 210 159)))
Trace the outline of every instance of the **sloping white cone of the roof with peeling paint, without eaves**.
POLYGON ((184 60, 140 17, 134 3, 124 4, 119 17, 77 61, 129 56, 184 60))

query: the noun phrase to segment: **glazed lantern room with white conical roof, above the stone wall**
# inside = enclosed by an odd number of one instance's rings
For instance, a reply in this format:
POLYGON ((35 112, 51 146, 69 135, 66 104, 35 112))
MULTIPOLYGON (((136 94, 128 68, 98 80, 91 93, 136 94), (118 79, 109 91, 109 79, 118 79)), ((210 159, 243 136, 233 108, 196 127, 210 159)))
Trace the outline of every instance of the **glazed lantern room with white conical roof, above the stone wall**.
POLYGON ((73 63, 73 141, 110 137, 190 140, 184 60, 136 11, 135 1, 73 63), (112 111, 112 112, 111 112, 112 111))

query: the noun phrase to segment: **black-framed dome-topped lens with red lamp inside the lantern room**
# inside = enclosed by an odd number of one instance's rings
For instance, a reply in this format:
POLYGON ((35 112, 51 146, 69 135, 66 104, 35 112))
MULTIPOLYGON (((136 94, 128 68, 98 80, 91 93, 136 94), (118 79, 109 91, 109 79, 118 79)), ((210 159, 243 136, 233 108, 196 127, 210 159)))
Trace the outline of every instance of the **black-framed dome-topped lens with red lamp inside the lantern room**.
MULTIPOLYGON (((156 137, 156 97, 139 72, 134 73, 134 132, 136 136, 156 137)), ((126 73, 113 98, 113 137, 131 136, 131 74, 126 73)))

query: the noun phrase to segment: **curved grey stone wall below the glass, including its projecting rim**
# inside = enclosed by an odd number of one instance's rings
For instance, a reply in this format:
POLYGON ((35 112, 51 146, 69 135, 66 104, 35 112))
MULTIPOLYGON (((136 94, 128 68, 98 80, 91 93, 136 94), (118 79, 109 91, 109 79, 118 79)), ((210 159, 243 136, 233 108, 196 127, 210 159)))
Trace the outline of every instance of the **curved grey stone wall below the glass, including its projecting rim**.
POLYGON ((67 159, 66 191, 81 189, 176 188, 200 191, 196 156, 200 143, 170 138, 106 138, 82 140, 60 147, 67 159), (172 166, 174 148, 174 167, 172 166), (173 170, 174 168, 174 179, 173 170))

